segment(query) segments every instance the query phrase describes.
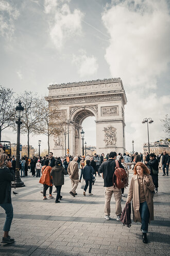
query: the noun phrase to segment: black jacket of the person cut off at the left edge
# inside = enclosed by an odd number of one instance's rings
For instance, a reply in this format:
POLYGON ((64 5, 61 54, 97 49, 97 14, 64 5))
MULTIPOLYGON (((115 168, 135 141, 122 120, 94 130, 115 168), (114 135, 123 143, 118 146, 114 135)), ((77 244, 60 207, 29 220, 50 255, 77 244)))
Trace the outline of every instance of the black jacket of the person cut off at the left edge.
POLYGON ((11 203, 11 182, 15 179, 12 168, 0 169, 0 204, 11 203))

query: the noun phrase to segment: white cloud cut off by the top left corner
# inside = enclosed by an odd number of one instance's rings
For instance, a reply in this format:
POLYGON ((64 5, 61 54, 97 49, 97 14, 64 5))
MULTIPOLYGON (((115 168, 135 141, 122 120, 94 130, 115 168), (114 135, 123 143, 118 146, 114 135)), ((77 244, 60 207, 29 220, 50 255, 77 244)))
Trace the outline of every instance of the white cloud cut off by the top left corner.
POLYGON ((0 34, 8 40, 14 33, 14 20, 18 19, 19 14, 19 11, 8 2, 0 2, 0 34))

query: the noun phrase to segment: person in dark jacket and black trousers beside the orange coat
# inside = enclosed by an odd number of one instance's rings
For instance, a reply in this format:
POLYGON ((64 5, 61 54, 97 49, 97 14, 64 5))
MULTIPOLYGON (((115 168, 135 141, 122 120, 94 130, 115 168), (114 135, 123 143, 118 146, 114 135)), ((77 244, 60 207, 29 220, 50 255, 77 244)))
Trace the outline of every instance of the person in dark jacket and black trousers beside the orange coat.
POLYGON ((66 170, 63 168, 61 161, 56 160, 55 166, 52 168, 50 175, 53 178, 53 184, 57 190, 57 196, 55 203, 60 203, 59 200, 62 199, 61 187, 64 185, 64 175, 67 175, 66 170))

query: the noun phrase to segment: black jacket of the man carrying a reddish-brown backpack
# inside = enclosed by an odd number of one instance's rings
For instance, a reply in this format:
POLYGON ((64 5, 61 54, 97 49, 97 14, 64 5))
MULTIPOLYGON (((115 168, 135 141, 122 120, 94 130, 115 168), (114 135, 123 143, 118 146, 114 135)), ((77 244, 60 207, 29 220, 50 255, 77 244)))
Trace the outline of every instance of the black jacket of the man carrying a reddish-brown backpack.
MULTIPOLYGON (((120 168, 124 169, 122 163, 119 161, 120 168)), ((106 162, 103 162, 98 171, 104 175, 104 187, 113 186, 113 174, 115 171, 116 163, 114 159, 108 159, 106 162)))

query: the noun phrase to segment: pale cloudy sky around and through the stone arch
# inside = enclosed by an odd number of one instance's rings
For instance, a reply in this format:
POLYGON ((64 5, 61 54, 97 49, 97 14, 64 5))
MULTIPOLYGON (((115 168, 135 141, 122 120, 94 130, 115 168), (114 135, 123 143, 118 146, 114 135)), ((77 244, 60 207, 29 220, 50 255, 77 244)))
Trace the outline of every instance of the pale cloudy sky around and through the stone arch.
MULTIPOLYGON (((0 84, 15 96, 48 95, 49 84, 104 78, 123 81, 126 150, 166 138, 169 114, 170 2, 167 0, 18 0, 0 2, 0 84)), ((84 120, 87 145, 95 145, 94 117, 84 120)), ((12 130, 2 140, 16 142, 12 130)), ((47 148, 40 134, 30 144, 47 148)), ((26 135, 21 144, 26 145, 26 135)))

